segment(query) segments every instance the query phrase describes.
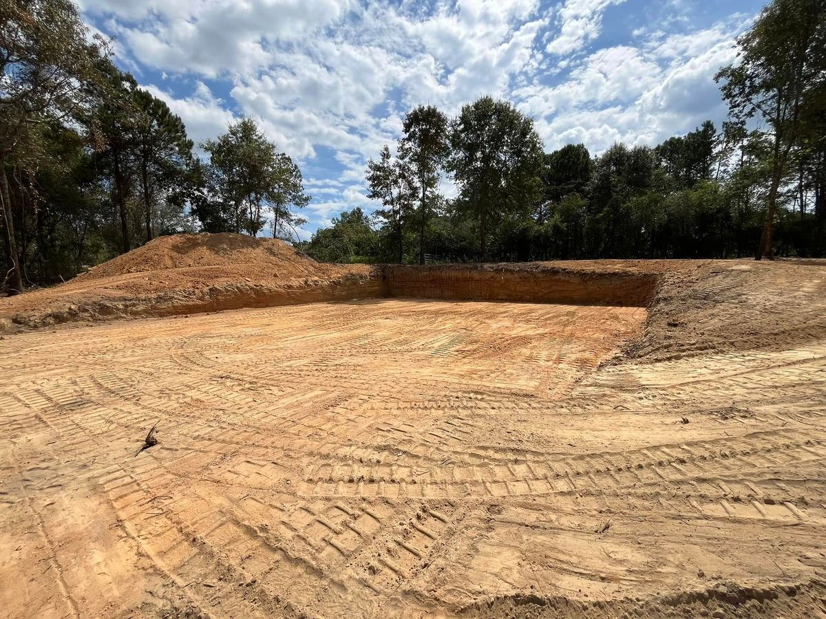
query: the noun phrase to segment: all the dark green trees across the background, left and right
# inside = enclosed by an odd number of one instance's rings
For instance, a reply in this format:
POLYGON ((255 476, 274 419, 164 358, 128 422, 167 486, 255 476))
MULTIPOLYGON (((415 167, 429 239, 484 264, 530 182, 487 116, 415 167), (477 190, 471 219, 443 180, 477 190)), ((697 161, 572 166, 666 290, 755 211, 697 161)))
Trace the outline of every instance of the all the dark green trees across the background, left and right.
MULTIPOLYGON (((510 102, 482 97, 453 118, 416 107, 368 162, 377 210, 297 244, 330 262, 823 256, 826 2, 773 0, 738 48, 716 76, 729 119, 653 148, 546 153, 510 102)), ((159 234, 297 239, 310 196, 292 159, 250 118, 199 157, 70 0, 0 0, 0 64, 9 294, 159 234)))

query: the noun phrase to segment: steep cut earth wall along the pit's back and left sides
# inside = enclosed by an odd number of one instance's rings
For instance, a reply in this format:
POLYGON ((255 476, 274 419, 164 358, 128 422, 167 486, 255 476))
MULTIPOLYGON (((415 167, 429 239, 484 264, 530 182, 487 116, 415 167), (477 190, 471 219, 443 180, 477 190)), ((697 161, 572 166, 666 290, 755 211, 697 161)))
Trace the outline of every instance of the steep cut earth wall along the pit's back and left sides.
POLYGON ((660 275, 654 273, 591 272, 541 264, 382 265, 368 272, 291 279, 275 286, 240 281, 126 298, 121 295, 64 300, 55 295, 26 311, 0 311, 0 333, 78 321, 160 318, 378 298, 647 307, 656 295, 659 281, 660 275))

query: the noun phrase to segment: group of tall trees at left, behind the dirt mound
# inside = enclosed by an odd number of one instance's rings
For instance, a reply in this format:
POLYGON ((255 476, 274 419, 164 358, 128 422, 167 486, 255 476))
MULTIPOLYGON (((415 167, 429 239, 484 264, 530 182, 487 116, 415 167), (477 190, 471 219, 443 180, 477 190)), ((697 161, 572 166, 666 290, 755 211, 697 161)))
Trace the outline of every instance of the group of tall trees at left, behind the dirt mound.
POLYGON ((310 200, 249 118, 193 153, 183 121, 112 61, 70 0, 0 0, 0 215, 9 294, 159 234, 286 234, 310 200))

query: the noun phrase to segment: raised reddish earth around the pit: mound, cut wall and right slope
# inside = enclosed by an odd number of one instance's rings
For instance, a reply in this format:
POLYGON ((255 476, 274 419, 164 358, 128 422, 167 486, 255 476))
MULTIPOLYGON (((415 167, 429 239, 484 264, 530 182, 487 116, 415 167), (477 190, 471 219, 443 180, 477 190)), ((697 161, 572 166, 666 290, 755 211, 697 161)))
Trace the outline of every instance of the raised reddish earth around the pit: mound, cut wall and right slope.
POLYGON ((60 286, 0 299, 0 333, 385 296, 523 300, 645 306, 643 335, 625 352, 666 360, 826 337, 826 314, 809 303, 826 298, 823 272, 824 261, 753 260, 370 267, 319 263, 274 239, 178 234, 60 286))

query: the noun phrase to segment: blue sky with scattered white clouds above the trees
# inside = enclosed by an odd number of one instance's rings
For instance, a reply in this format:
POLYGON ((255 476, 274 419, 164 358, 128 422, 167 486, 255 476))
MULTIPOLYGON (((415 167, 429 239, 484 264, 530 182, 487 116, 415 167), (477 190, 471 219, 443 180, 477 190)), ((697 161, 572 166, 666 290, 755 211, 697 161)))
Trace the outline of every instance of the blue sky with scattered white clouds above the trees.
MULTIPOLYGON (((116 63, 199 142, 252 116, 301 166, 303 238, 376 205, 364 168, 419 104, 485 94, 534 118, 547 150, 657 144, 725 109, 714 73, 758 0, 81 0, 116 63)), ((449 194, 452 187, 444 183, 449 194)))

